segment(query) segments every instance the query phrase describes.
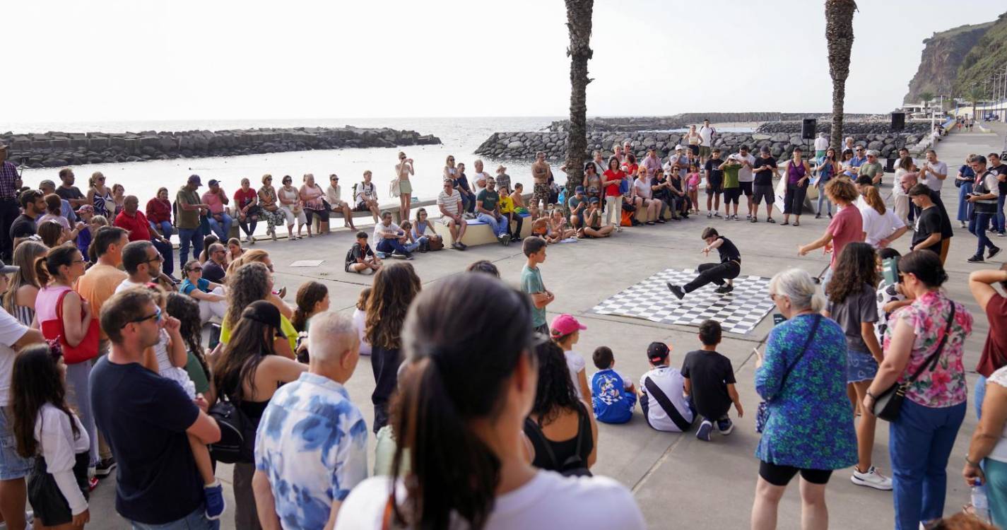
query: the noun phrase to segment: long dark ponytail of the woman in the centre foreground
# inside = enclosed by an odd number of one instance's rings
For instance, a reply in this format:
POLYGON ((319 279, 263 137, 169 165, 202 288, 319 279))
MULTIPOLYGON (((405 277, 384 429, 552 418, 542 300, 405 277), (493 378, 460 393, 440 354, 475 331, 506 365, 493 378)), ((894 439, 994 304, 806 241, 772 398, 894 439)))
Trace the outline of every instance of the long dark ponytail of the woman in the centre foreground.
MULTIPOLYGON (((401 394, 392 407, 392 425, 399 440, 392 476, 402 473, 408 450, 413 480, 406 485, 405 506, 392 503, 397 525, 448 528, 452 514, 457 514, 469 528, 478 530, 492 512, 500 460, 472 432, 450 394, 433 359, 406 370, 401 394), (445 450, 447 439, 449 450, 445 450)), ((390 499, 397 498, 397 488, 393 485, 390 499)))

